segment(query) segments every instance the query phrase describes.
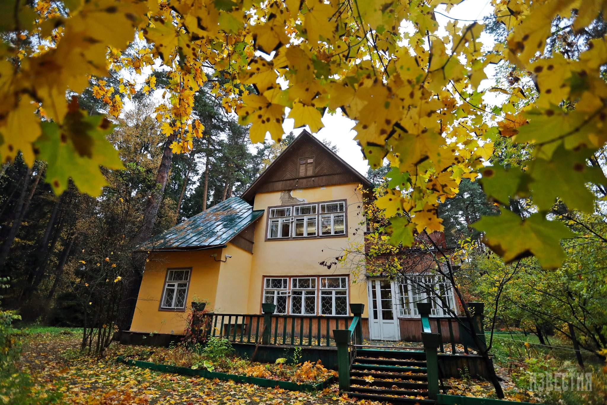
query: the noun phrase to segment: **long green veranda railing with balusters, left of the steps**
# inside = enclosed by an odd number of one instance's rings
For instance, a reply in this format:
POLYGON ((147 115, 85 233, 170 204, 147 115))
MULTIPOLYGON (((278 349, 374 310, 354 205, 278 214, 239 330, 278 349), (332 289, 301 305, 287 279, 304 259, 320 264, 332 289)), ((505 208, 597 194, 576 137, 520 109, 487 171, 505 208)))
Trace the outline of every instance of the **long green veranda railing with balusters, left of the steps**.
POLYGON ((262 315, 203 314, 198 316, 193 329, 201 341, 220 336, 234 343, 329 347, 335 346, 331 331, 348 328, 354 319, 352 316, 274 315, 268 305, 263 304, 262 315))

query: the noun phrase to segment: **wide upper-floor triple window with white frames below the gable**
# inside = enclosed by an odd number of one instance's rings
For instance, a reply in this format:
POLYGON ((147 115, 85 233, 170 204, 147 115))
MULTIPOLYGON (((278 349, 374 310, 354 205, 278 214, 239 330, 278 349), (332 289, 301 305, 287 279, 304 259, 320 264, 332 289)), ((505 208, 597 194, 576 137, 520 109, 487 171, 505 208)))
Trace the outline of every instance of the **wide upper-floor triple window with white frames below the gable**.
POLYGON ((268 212, 268 239, 342 236, 345 201, 279 206, 268 212))

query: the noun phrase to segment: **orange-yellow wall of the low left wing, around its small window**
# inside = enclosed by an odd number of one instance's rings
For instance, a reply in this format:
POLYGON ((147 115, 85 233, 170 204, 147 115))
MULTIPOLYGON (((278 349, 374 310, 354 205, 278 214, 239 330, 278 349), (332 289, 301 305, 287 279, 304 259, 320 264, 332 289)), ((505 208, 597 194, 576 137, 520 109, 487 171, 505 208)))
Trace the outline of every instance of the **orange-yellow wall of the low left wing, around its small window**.
POLYGON ((213 253, 216 253, 218 258, 222 256, 221 249, 152 252, 143 273, 131 330, 134 332, 175 334, 183 333, 185 330, 188 311, 158 309, 167 268, 192 268, 188 298, 186 299, 188 308, 194 294, 208 300, 208 307, 214 308, 220 262, 215 262, 210 257, 213 253))

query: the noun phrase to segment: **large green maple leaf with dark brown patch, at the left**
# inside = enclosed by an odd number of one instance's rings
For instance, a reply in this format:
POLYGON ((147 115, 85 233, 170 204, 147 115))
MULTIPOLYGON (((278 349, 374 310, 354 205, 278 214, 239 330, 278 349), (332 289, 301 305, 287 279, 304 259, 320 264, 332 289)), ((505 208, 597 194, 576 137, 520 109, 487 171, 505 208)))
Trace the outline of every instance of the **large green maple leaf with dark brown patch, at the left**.
POLYGON ((41 123, 42 135, 36 140, 37 158, 48 163, 46 181, 55 194, 61 194, 72 181, 81 192, 92 197, 101 193, 106 178, 100 166, 124 168, 118 151, 106 140, 113 125, 103 115, 88 116, 82 111, 69 112, 63 126, 41 123), (69 118, 70 114, 73 114, 69 118))

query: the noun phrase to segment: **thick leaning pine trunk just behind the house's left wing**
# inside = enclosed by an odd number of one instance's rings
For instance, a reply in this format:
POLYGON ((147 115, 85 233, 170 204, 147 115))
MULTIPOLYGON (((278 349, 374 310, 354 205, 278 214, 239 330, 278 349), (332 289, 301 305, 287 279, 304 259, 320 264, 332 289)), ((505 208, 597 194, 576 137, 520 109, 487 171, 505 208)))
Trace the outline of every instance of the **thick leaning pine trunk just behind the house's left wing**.
MULTIPOLYGON (((166 180, 169 176, 169 169, 171 169, 171 162, 173 159, 173 151, 171 149, 171 143, 176 139, 176 135, 172 134, 164 142, 164 150, 160 165, 158 166, 158 172, 156 174, 155 189, 151 192, 146 207, 143 211, 143 223, 137 236, 133 239, 134 246, 141 245, 152 236, 154 230, 154 223, 156 222, 156 216, 158 214, 158 208, 160 208, 160 202, 164 194, 164 187, 166 186, 166 180)), ((141 279, 143 277, 143 270, 145 268, 146 259, 148 254, 146 252, 134 252, 132 254, 133 270, 132 276, 126 280, 124 285, 123 296, 121 300, 121 313, 118 317, 118 328, 120 330, 128 330, 131 328, 131 321, 133 314, 135 313, 135 306, 137 305, 137 296, 139 294, 139 287, 141 286, 141 279)))

